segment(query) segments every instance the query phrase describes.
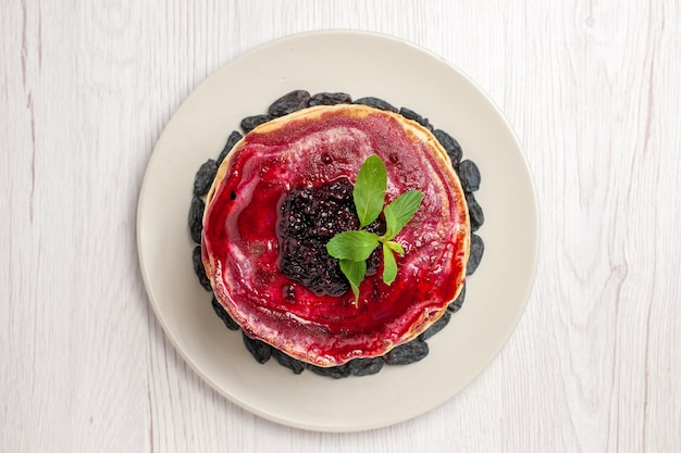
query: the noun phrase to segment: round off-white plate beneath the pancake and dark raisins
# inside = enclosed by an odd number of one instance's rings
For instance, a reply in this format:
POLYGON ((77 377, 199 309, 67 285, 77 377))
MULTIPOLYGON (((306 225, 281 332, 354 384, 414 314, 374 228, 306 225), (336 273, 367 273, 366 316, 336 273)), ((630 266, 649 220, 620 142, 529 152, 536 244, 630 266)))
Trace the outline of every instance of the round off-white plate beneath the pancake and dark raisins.
POLYGON ((485 95, 442 59, 373 34, 295 35, 216 71, 182 104, 153 150, 139 197, 137 240, 149 299, 175 348, 227 399, 268 419, 311 430, 392 425, 453 398, 496 356, 530 295, 537 259, 537 206, 511 129, 485 95), (187 212, 196 169, 215 158, 240 118, 294 90, 383 98, 455 136, 483 175, 476 197, 486 246, 466 303, 429 340, 430 355, 369 377, 333 380, 260 365, 214 315, 191 267, 187 212))

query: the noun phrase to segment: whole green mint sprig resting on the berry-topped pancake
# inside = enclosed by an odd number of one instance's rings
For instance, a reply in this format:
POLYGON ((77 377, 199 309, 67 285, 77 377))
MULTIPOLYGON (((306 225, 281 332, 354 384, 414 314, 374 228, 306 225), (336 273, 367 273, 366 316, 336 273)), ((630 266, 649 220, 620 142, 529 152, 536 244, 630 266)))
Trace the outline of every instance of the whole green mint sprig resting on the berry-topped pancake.
POLYGON ((423 199, 420 190, 409 190, 384 209, 386 188, 385 164, 381 158, 372 154, 359 169, 352 189, 360 229, 339 232, 326 243, 326 251, 339 260, 340 270, 350 284, 355 294, 355 306, 359 303, 359 285, 367 274, 367 260, 380 244, 383 251, 383 281, 386 285, 395 281, 397 277, 395 253, 405 254, 405 249, 393 239, 413 217, 423 199), (383 236, 361 229, 379 218, 381 212, 385 217, 383 236))

